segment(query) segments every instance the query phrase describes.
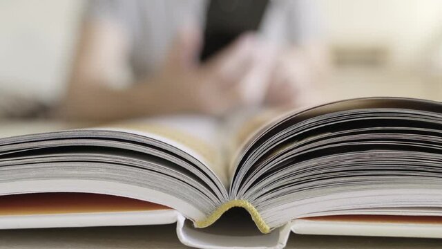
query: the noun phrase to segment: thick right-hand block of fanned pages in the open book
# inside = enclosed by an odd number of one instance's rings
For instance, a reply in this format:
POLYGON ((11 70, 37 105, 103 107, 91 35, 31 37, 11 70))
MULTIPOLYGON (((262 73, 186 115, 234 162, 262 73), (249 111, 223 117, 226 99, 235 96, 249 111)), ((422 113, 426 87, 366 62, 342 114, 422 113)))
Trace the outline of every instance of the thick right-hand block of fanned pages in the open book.
POLYGON ((247 139, 231 195, 251 200, 271 228, 410 208, 441 215, 441 110, 438 102, 364 98, 287 114, 247 139))

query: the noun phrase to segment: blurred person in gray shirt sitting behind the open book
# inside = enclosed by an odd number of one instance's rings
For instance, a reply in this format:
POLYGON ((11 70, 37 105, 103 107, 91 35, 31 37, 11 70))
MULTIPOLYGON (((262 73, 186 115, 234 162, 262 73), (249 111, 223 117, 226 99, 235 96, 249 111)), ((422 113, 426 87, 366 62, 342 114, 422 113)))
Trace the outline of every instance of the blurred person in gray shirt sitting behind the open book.
POLYGON ((325 53, 312 1, 269 1, 258 33, 241 35, 200 62, 206 5, 89 1, 63 115, 98 121, 182 112, 222 116, 244 106, 313 98, 309 89, 325 53), (125 70, 133 75, 128 84, 119 77, 125 70), (247 77, 265 82, 244 87, 247 77))

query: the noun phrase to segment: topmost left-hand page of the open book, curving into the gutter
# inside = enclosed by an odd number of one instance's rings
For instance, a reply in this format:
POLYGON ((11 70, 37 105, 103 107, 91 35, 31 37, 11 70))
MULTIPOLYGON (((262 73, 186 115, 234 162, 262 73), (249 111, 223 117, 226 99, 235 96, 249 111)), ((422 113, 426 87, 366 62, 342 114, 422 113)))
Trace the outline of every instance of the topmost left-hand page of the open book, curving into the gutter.
POLYGON ((206 165, 227 187, 229 179, 220 123, 209 116, 180 115, 128 120, 99 129, 136 133, 173 145, 206 165))

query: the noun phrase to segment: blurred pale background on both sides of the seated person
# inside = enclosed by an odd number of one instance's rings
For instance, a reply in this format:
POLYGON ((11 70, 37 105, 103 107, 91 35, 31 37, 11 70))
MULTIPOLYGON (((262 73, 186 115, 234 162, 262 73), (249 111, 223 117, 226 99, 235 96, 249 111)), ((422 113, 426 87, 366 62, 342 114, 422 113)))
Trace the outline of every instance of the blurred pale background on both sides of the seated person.
MULTIPOLYGON (((332 64, 325 100, 442 100, 442 1, 311 0, 332 64)), ((57 102, 66 91, 85 1, 0 1, 0 106, 57 102), (10 101, 10 100, 9 100, 10 101)))

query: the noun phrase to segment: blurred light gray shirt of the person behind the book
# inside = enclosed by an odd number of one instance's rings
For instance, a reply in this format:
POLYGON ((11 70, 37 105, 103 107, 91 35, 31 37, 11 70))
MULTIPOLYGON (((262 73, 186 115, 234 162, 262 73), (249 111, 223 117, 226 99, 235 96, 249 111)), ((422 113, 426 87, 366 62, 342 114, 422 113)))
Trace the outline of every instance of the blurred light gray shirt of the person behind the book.
MULTIPOLYGON (((93 0, 86 19, 107 19, 124 27, 131 43, 129 62, 136 79, 161 64, 177 30, 192 22, 204 26, 205 0, 93 0)), ((320 15, 312 0, 273 0, 259 33, 276 44, 302 45, 318 39, 320 15)))

